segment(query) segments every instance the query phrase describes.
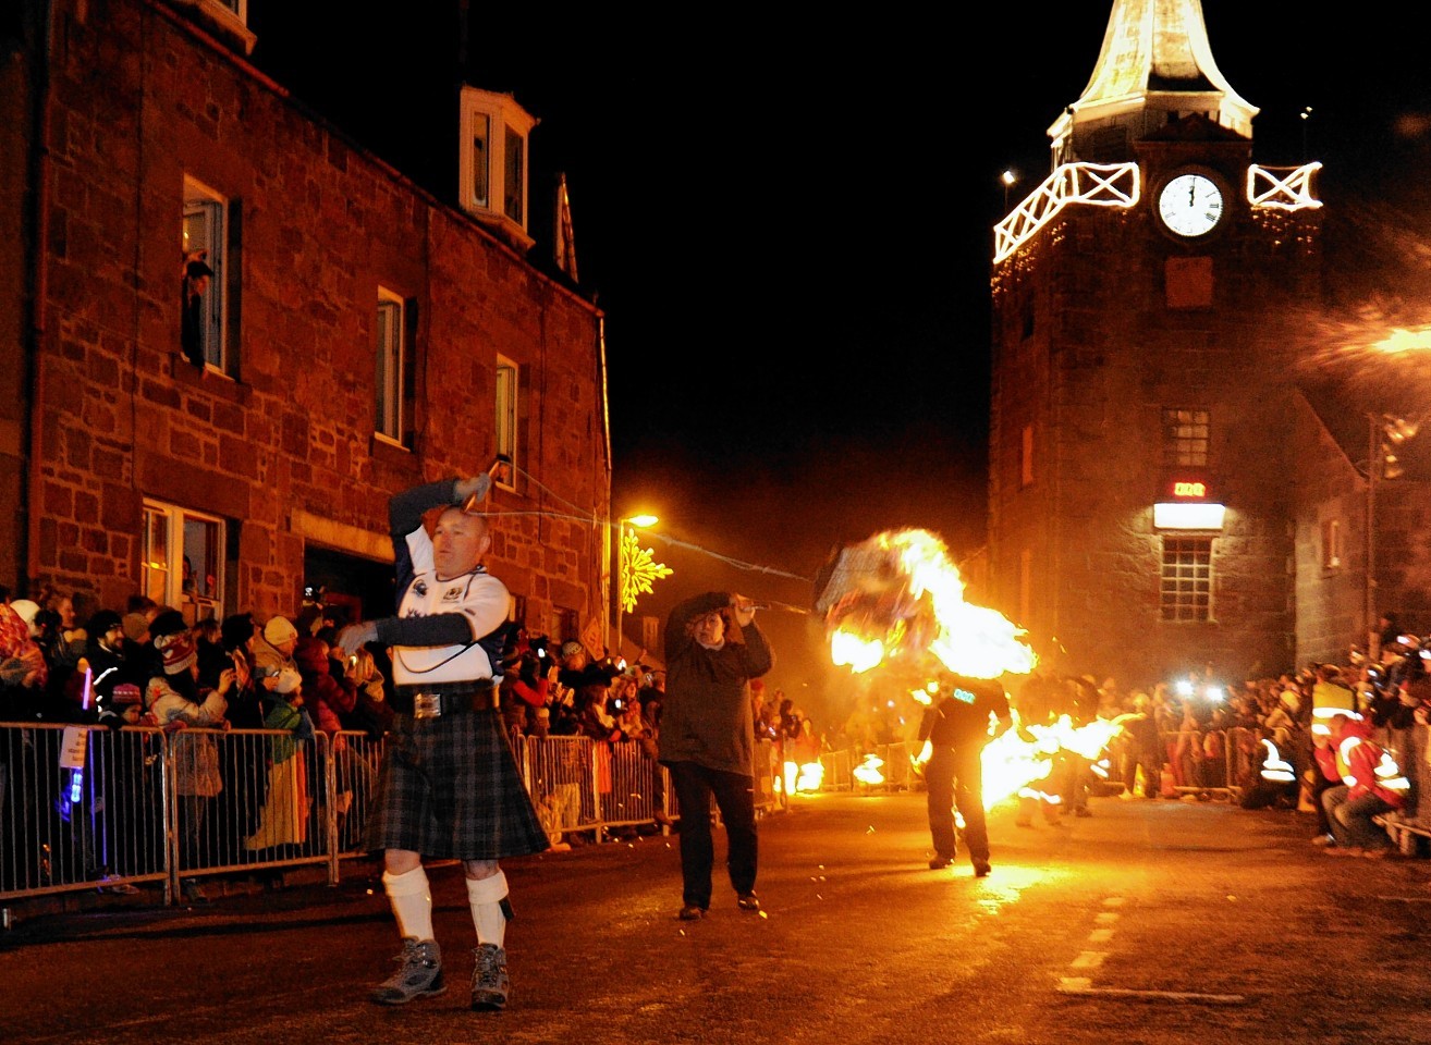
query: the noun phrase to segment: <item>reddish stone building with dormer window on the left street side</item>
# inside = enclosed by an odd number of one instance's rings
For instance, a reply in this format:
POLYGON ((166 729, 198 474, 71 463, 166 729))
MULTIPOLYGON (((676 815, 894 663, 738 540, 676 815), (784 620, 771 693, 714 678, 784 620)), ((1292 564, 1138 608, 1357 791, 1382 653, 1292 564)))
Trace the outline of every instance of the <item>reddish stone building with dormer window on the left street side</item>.
POLYGON ((245 11, 0 24, 0 583, 386 613, 388 495, 504 455, 517 618, 602 625, 602 316, 528 232, 535 119, 464 87, 435 192, 253 64, 245 11))

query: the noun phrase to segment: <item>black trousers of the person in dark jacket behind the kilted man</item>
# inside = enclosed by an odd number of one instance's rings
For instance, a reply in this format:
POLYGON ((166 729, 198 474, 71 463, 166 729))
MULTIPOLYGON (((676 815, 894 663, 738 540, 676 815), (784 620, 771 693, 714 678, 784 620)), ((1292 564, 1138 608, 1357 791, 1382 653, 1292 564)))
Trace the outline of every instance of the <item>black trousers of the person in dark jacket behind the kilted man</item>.
POLYGON ((756 781, 746 773, 671 762, 671 783, 681 806, 681 902, 711 905, 711 798, 726 823, 726 868, 737 895, 756 891, 756 781))

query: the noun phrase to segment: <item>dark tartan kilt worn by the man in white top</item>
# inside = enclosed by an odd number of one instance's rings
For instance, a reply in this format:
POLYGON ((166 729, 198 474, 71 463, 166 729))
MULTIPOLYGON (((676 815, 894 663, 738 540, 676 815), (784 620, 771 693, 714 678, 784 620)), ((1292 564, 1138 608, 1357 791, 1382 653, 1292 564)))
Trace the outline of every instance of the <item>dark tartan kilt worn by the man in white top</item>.
POLYGON ((388 733, 368 851, 411 849, 435 859, 495 861, 551 842, 522 785, 497 709, 415 719, 388 733))

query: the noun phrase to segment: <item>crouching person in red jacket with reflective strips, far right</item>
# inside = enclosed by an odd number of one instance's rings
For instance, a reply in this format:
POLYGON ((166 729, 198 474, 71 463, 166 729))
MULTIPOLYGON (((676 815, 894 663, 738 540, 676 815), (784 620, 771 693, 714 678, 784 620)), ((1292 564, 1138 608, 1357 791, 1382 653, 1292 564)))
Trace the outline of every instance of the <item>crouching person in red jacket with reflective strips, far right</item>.
POLYGON ((1329 743, 1315 749, 1317 762, 1327 776, 1339 776, 1344 782, 1322 793, 1334 839, 1327 853, 1382 858, 1391 849, 1391 839, 1372 816, 1405 805, 1407 778, 1371 739, 1371 728, 1361 715, 1339 712, 1328 719, 1328 726, 1329 743))

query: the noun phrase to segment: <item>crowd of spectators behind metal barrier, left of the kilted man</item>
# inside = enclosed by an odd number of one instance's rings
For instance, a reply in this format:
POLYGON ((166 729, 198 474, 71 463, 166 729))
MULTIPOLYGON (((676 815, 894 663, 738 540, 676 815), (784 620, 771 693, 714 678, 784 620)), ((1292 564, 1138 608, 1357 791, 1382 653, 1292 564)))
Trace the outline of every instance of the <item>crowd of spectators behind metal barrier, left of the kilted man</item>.
MULTIPOLYGON (((170 733, 186 866, 202 859, 207 811, 225 782, 245 772, 239 748, 220 749, 207 730, 288 733, 266 751, 262 809, 242 826, 249 851, 279 852, 306 839, 309 811, 329 796, 323 775, 305 772, 293 756, 316 732, 329 738, 349 803, 353 789, 371 785, 372 759, 342 733, 384 735, 391 663, 376 643, 343 658, 339 610, 305 605, 292 619, 259 623, 236 613, 190 622, 137 593, 122 609, 84 606, 83 616, 79 593, 0 596, 0 722, 147 725, 170 733)), ((189 899, 203 899, 195 879, 183 886, 189 899)))

